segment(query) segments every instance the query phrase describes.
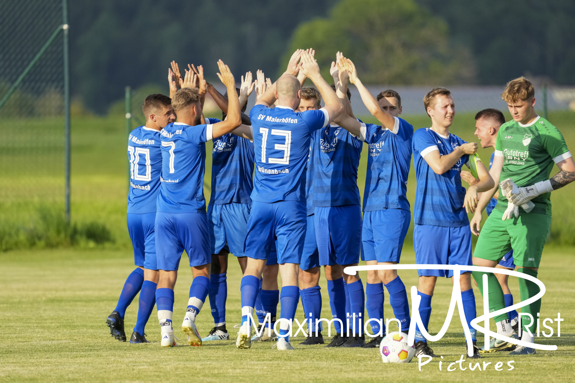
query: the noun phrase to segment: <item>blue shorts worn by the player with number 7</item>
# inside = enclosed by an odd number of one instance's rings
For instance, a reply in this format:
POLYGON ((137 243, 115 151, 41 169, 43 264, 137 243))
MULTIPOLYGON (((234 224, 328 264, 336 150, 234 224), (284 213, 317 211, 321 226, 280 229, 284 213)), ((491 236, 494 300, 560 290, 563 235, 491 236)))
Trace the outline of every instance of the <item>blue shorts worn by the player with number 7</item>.
POLYGON ((190 266, 212 262, 205 213, 156 213, 156 254, 159 270, 178 270, 186 250, 190 266))

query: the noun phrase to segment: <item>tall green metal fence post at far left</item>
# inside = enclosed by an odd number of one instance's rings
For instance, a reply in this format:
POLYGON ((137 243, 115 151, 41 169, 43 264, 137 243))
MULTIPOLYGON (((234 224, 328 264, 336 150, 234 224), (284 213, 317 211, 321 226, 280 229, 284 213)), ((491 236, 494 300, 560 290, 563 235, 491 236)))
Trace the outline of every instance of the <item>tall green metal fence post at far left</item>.
POLYGON ((64 30, 64 134, 66 135, 66 186, 64 194, 66 199, 66 221, 70 223, 70 56, 68 55, 68 0, 62 0, 62 29, 64 30))

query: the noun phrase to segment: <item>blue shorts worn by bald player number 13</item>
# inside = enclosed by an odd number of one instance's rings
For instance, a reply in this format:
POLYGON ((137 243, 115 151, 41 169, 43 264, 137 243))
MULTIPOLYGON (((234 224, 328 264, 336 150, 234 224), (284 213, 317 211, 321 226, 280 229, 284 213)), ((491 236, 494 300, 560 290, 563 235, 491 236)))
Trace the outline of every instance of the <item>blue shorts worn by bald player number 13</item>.
POLYGON ((252 201, 244 254, 268 259, 275 244, 279 264, 300 263, 308 225, 305 213, 305 201, 252 201))

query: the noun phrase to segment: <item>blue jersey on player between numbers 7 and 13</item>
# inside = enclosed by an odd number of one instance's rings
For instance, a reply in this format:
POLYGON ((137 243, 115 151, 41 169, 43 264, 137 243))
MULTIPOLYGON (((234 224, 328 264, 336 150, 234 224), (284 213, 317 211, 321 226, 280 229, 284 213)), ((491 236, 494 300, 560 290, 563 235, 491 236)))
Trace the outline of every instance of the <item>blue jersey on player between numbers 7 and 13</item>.
MULTIPOLYGON (((206 118, 206 124, 220 122, 206 118)), ((254 189, 254 144, 242 137, 227 133, 213 140, 212 193, 210 205, 230 202, 251 205, 254 189)))

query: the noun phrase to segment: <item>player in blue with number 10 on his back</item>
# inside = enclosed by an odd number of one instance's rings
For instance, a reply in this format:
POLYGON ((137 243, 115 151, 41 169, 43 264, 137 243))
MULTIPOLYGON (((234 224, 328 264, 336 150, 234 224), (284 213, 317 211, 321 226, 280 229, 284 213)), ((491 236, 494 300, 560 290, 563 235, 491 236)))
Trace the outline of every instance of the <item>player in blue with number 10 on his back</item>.
POLYGON ((141 289, 136 326, 130 343, 150 343, 145 339, 144 328, 154 309, 158 283, 154 221, 162 170, 160 131, 176 118, 170 97, 163 94, 148 95, 144 99, 142 112, 145 125, 134 129, 128 137, 130 189, 127 221, 137 267, 126 279, 116 309, 106 319, 110 334, 125 342, 124 315, 141 289))

